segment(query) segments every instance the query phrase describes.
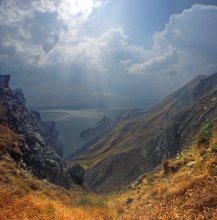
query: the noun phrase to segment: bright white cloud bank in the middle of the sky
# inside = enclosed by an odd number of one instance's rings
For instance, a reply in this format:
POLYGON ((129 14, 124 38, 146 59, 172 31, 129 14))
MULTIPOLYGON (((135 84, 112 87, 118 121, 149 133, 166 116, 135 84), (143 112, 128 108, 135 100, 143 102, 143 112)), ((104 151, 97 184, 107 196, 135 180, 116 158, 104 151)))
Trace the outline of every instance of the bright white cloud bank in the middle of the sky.
MULTIPOLYGON (((117 68, 121 60, 141 60, 150 52, 141 47, 129 45, 128 36, 121 27, 112 28, 98 37, 71 37, 65 32, 64 37, 46 56, 46 62, 70 63, 80 62, 92 66, 98 72, 117 68)), ((46 63, 45 62, 45 63, 46 63)), ((122 61, 123 64, 123 61, 122 61)), ((122 65, 121 65, 122 66, 122 65)))

